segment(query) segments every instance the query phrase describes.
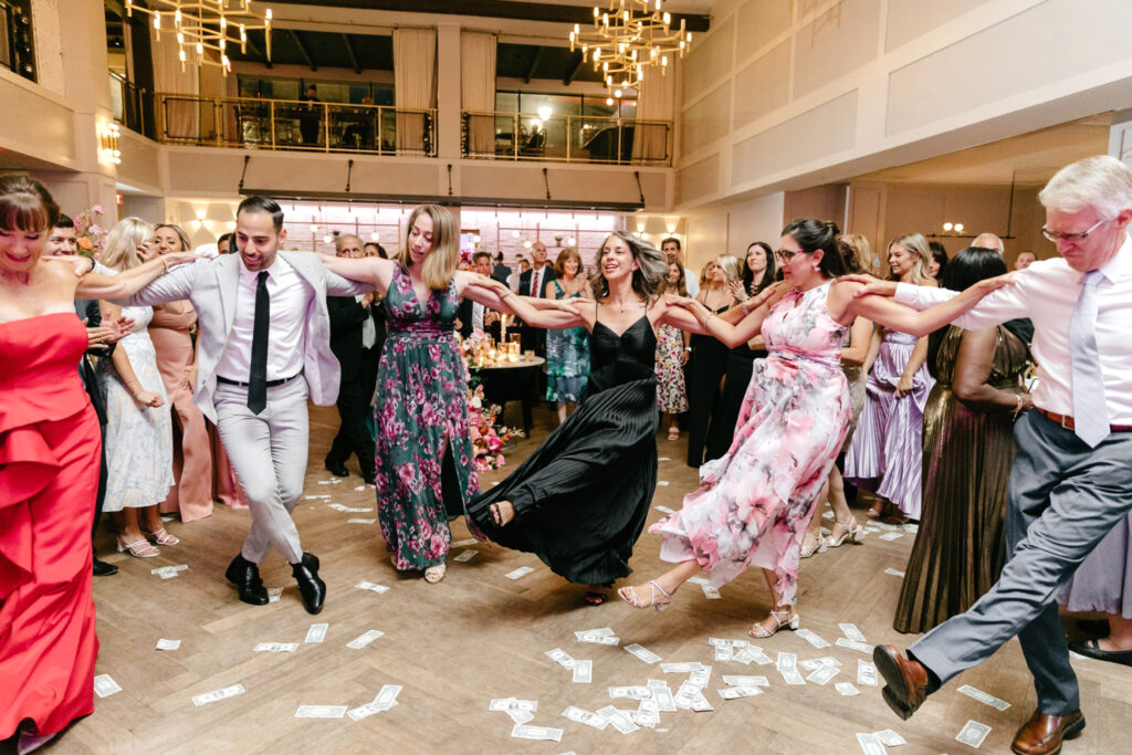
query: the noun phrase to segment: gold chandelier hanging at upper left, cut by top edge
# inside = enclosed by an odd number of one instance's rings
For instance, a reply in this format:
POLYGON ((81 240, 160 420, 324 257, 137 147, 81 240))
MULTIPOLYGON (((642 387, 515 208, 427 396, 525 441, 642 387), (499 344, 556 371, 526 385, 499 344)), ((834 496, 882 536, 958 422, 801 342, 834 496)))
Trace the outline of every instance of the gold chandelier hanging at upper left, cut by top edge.
POLYGON ((181 70, 186 63, 220 66, 224 76, 232 69, 228 57, 229 45, 248 51, 248 32, 263 29, 267 61, 272 60, 272 9, 266 8, 260 18, 251 9, 251 0, 126 0, 126 15, 134 11, 153 16, 153 28, 161 41, 163 32, 177 35, 178 58, 181 70), (218 60, 205 54, 215 52, 218 60))

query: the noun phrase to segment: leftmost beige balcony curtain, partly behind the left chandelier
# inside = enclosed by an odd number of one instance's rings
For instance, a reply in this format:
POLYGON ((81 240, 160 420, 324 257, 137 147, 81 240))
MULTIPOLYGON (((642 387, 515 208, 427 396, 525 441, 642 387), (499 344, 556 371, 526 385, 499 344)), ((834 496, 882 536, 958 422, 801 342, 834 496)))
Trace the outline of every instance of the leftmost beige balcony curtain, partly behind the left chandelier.
POLYGON ((153 50, 154 89, 158 94, 168 95, 164 102, 160 100, 157 102, 157 118, 165 135, 170 139, 187 141, 207 139, 211 136, 208 131, 212 129, 213 106, 212 103, 201 103, 198 98, 200 72, 197 70, 197 65, 185 63, 185 70, 181 70, 175 32, 163 31, 158 41, 157 31, 151 26, 149 46, 153 50), (205 123, 201 123, 203 113, 205 123))

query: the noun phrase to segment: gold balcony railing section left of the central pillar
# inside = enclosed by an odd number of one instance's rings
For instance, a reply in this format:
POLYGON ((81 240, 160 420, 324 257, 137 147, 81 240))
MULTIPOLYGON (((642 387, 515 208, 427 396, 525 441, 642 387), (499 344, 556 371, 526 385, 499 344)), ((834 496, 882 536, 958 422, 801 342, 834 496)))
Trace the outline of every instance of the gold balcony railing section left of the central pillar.
POLYGON ((179 94, 157 102, 166 144, 436 156, 436 109, 179 94))

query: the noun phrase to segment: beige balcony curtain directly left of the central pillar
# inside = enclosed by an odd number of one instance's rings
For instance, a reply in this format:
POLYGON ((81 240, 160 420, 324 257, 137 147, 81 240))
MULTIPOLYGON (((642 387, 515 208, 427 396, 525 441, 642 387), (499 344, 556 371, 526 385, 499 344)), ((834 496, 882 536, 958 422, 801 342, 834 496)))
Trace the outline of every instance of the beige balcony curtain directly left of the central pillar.
POLYGON ((436 106, 436 29, 393 29, 393 97, 397 112, 397 154, 428 154, 431 115, 402 113, 401 108, 436 106))

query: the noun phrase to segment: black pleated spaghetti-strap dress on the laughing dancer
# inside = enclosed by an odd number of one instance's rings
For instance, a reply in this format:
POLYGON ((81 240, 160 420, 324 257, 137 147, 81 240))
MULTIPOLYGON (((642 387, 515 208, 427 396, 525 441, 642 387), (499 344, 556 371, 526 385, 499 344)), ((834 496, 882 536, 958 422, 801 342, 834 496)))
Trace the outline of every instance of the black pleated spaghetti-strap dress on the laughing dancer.
POLYGON ((657 336, 642 317, 618 336, 597 323, 590 381, 577 411, 495 488, 468 506, 494 542, 537 555, 571 582, 633 573, 629 557, 657 488, 657 336), (496 526, 489 506, 509 500, 496 526))

